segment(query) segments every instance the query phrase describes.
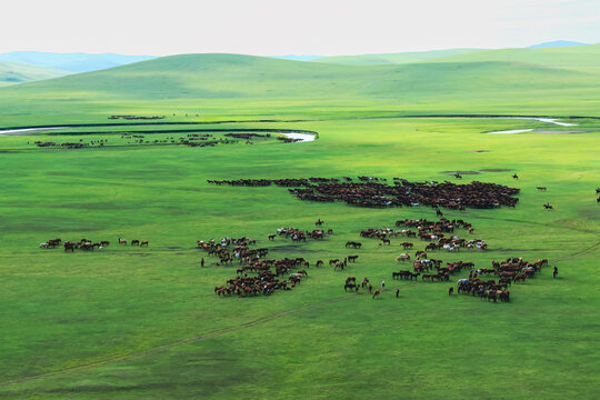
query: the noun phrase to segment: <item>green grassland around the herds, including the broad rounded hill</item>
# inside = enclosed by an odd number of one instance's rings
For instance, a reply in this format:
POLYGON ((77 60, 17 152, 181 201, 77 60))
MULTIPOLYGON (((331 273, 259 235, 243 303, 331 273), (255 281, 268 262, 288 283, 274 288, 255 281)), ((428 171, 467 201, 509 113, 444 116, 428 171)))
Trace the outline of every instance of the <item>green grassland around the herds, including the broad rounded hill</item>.
MULTIPOLYGON (((461 83, 453 81, 460 72, 443 67, 432 72, 413 64, 297 66, 244 58, 234 59, 242 67, 223 59, 214 62, 226 67, 207 67, 201 58, 187 57, 189 63, 178 73, 167 58, 3 88, 0 127, 108 123, 111 114, 159 114, 174 122, 238 121, 199 127, 223 131, 312 130, 319 140, 59 150, 32 146, 57 139, 50 130, 0 137, 0 397, 597 398, 600 120, 559 127, 534 120, 404 118, 600 117, 594 72, 476 62, 464 64, 477 73, 462 77, 461 83), (219 82, 221 68, 228 78, 219 82), (278 76, 264 72, 268 68, 282 70, 278 76), (266 82, 254 80, 257 71, 266 82), (403 78, 396 81, 393 74, 403 78), (432 74, 439 83, 427 82, 432 74), (549 76, 554 80, 547 84, 549 76), (263 119, 274 121, 251 122, 263 119), (526 128, 586 132, 482 133, 526 128), (399 219, 434 219, 430 208, 312 203, 297 200, 286 188, 207 183, 363 174, 457 181, 442 173, 452 170, 481 172, 464 176, 466 182, 520 188, 520 200, 514 209, 444 211, 473 224, 474 233, 461 231, 461 237, 482 238, 490 249, 440 250, 431 257, 487 268, 508 257, 547 258, 559 268, 558 279, 546 268, 513 284, 509 303, 449 297, 458 276, 450 283, 392 280, 392 271, 409 268, 394 260, 403 252, 403 238, 387 247, 359 237, 363 229, 393 227, 399 219), (514 172, 519 180, 511 178, 514 172), (548 191, 539 192, 538 186, 548 191), (546 202, 554 210, 546 211, 546 202), (323 241, 267 240, 281 227, 313 229, 318 218, 334 232, 323 241), (214 286, 232 278, 237 266, 216 266, 196 241, 223 236, 257 239, 273 258, 327 263, 360 257, 343 272, 311 267, 291 291, 218 298, 214 286), (39 249, 54 237, 111 244, 93 253, 39 249), (118 246, 119 237, 150 246, 118 246), (348 240, 360 240, 363 248, 346 249, 348 240), (376 287, 384 279, 387 289, 379 300, 346 293, 348 276, 369 277, 376 287)), ((102 128, 102 133, 80 138, 112 141, 122 130, 127 127, 102 128)), ((426 246, 412 241, 414 250, 426 246)))

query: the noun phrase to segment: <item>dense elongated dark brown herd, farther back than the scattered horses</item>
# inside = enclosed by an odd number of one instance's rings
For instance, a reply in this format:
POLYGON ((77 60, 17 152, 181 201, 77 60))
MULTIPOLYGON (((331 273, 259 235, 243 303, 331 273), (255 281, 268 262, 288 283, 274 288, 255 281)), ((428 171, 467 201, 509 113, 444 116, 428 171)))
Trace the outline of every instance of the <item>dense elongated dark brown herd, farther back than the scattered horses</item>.
POLYGON ((276 184, 290 187, 290 193, 300 200, 333 202, 360 207, 418 207, 429 206, 463 210, 466 207, 491 209, 501 206, 514 207, 519 201, 513 196, 519 189, 503 184, 473 181, 467 184, 444 182, 409 182, 394 178, 393 184, 383 179, 359 177, 354 182, 349 177, 344 181, 328 178, 310 179, 239 179, 209 180, 209 183, 266 187, 276 184), (347 179, 348 178, 348 179, 347 179))

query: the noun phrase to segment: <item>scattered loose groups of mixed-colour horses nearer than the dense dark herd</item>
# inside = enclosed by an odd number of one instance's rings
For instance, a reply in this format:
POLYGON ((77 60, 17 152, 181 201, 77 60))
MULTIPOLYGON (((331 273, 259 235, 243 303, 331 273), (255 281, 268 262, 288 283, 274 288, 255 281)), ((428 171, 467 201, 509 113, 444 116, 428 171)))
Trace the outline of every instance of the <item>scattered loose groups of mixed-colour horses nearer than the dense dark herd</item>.
MULTIPOLYGON (((268 240, 272 241, 277 237, 289 238, 293 241, 306 241, 307 238, 311 239, 324 239, 333 233, 332 229, 322 229, 323 221, 319 219, 314 224, 318 229, 314 230, 300 230, 296 228, 280 228, 277 230, 277 234, 268 234, 268 240)), ((474 248, 472 244, 486 244, 477 246, 484 250, 487 243, 483 240, 464 240, 460 239, 454 232, 458 229, 473 232, 474 228, 471 223, 461 219, 449 220, 441 218, 438 221, 429 221, 427 219, 404 219, 396 221, 396 228, 369 228, 360 231, 361 238, 379 239, 382 244, 390 244, 390 238, 407 237, 407 238, 420 238, 422 241, 429 243, 424 247, 424 250, 417 250, 414 252, 414 261, 412 262, 412 270, 400 270, 392 272, 392 280, 408 280, 421 282, 448 282, 451 277, 458 274, 464 270, 469 270, 469 278, 461 278, 457 281, 458 293, 471 294, 472 297, 479 297, 480 299, 487 299, 488 301, 498 302, 510 301, 509 287, 512 283, 524 282, 528 279, 533 278, 537 273, 540 273, 542 267, 548 266, 548 260, 536 260, 528 262, 522 258, 509 258, 503 261, 492 261, 492 268, 476 268, 473 262, 467 261, 453 261, 447 262, 442 266, 442 260, 428 258, 427 251, 434 251, 446 248, 446 246, 457 246, 459 248, 474 248), (398 229, 402 228, 402 229, 398 229), (436 241, 436 242, 433 242, 436 241), (493 274, 497 279, 483 279, 484 276, 493 274)), ((128 244, 128 241, 123 238, 118 239, 119 244, 128 244)), ((63 246, 64 251, 74 252, 76 249, 84 251, 93 251, 94 249, 102 250, 110 244, 109 241, 91 241, 89 239, 81 239, 79 241, 62 241, 60 238, 50 239, 40 243, 42 249, 54 249, 59 246, 63 246)), ((148 241, 131 240, 131 246, 149 246, 148 241)), ((403 241, 400 246, 404 249, 413 249, 414 243, 403 241)), ((236 277, 226 281, 223 286, 214 287, 214 293, 219 297, 237 294, 238 297, 251 297, 251 296, 270 296, 277 290, 291 290, 297 284, 308 277, 307 269, 310 268, 310 262, 304 258, 268 258, 269 249, 258 248, 257 240, 241 237, 224 237, 220 240, 198 240, 197 247, 208 253, 210 257, 219 259, 216 266, 232 266, 234 261, 239 267, 236 269, 236 277), (253 248, 251 248, 253 247, 253 248)), ((362 243, 358 241, 347 241, 346 248, 361 249, 362 243)), ((333 271, 344 270, 349 263, 356 262, 359 258, 358 254, 352 254, 340 259, 330 259, 329 266, 333 267, 333 271)), ((409 253, 401 253, 397 261, 406 262, 410 261, 409 253)), ((204 259, 202 258, 201 266, 204 266, 204 259)), ((322 260, 317 260, 314 267, 324 267, 322 260)), ((554 268, 554 277, 558 270, 554 268)), ((357 284, 356 277, 348 277, 343 286, 344 291, 352 290, 359 293, 360 289, 368 290, 372 294, 373 299, 381 298, 384 293, 384 281, 381 283, 381 288, 377 289, 369 282, 368 278, 364 278, 361 284, 357 284)), ((398 297, 398 288, 396 289, 396 296, 398 297)), ((450 287, 448 293, 452 294, 453 287, 450 287)))

